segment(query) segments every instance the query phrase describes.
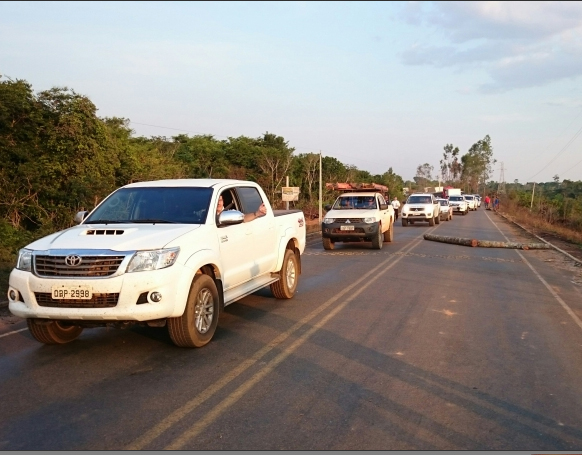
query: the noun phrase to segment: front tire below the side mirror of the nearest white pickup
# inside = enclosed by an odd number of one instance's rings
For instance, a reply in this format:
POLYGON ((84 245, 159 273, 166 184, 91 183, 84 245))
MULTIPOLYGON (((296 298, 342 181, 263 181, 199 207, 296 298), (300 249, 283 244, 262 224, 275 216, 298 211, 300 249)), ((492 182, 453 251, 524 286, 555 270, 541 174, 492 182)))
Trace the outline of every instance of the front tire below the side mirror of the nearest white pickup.
POLYGON ((209 275, 197 275, 190 286, 184 314, 168 318, 168 332, 176 346, 201 348, 214 336, 220 311, 220 298, 209 275))

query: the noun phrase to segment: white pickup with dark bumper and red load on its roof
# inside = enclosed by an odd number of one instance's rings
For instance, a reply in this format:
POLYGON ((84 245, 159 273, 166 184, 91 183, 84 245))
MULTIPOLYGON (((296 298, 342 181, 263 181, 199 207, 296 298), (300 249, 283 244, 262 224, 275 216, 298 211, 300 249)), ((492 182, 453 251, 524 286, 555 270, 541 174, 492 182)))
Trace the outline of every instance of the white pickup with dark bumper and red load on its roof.
POLYGON ((345 193, 325 209, 321 236, 326 250, 336 242, 372 242, 381 249, 394 239, 394 208, 379 192, 345 193))

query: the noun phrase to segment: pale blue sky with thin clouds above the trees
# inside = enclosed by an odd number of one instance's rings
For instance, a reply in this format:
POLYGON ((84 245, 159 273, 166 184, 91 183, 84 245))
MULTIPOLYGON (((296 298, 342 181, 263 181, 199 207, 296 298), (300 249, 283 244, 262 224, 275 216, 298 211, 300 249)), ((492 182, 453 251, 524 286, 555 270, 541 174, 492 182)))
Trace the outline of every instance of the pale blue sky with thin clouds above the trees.
POLYGON ((582 2, 0 2, 0 74, 137 136, 283 136, 409 180, 491 137, 491 180, 582 180, 582 2))

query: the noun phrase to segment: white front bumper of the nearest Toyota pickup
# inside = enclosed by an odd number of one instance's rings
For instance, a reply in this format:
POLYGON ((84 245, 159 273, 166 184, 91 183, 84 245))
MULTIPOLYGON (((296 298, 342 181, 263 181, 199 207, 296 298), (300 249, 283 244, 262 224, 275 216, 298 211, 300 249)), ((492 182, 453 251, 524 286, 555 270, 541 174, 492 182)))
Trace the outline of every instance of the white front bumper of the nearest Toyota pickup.
MULTIPOLYGON (((30 272, 14 269, 9 280, 9 309, 12 314, 22 318, 60 320, 148 321, 178 317, 184 312, 193 274, 191 269, 181 264, 174 264, 161 270, 125 273, 99 279, 41 278, 30 272), (111 307, 80 308, 71 307, 75 303, 70 301, 52 300, 50 297, 53 285, 79 284, 90 286, 93 294, 100 296, 118 294, 117 303, 114 302, 114 306, 111 307), (17 291, 19 298, 11 299, 11 290, 17 291), (149 298, 153 291, 162 294, 160 302, 155 303, 149 298), (46 305, 47 301, 51 306, 41 306, 46 305)), ((92 303, 83 302, 83 305, 90 306, 92 303)))

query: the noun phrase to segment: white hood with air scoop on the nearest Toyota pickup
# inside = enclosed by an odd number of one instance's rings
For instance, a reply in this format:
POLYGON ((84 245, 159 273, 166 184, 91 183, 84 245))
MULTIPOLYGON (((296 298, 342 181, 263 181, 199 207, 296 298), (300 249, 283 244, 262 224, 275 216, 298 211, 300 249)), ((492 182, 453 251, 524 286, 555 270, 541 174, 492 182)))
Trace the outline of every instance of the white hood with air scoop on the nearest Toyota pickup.
POLYGON ((199 224, 81 224, 37 240, 32 250, 154 250, 194 231, 199 224))

